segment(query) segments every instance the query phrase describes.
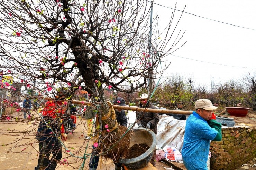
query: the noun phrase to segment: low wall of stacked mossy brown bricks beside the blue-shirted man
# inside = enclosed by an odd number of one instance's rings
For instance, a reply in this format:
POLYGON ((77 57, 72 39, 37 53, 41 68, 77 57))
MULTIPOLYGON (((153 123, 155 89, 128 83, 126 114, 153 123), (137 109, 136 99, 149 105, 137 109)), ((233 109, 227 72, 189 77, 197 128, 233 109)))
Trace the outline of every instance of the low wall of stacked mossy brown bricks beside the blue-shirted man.
POLYGON ((232 170, 256 157, 256 129, 222 128, 222 141, 210 143, 210 169, 232 170))

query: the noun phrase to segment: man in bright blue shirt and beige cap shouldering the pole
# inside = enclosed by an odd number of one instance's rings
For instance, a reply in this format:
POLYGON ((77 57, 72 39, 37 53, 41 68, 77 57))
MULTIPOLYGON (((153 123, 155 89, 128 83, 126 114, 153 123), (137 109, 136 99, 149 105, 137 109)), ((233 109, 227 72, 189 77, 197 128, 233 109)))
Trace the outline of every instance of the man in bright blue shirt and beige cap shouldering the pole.
POLYGON ((208 99, 195 102, 195 110, 187 121, 182 148, 182 159, 186 169, 207 170, 210 140, 221 141, 221 124, 212 110, 217 107, 208 99))

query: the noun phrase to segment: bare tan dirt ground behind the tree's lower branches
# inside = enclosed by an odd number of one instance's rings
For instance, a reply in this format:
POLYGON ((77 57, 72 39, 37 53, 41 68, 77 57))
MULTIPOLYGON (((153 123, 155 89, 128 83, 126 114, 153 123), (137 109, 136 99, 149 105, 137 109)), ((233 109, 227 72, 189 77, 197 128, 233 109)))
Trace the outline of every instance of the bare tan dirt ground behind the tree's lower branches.
MULTIPOLYGON (((21 114, 23 113, 14 113, 12 116, 22 118, 21 114)), ((69 163, 68 166, 66 164, 58 164, 56 170, 78 170, 81 168, 80 165, 83 163, 83 159, 77 157, 83 157, 84 153, 88 157, 91 153, 93 143, 91 140, 84 140, 86 132, 82 123, 85 123, 85 119, 77 118, 77 129, 74 133, 68 134, 67 141, 63 142, 66 150, 70 150, 70 152, 66 152, 64 146, 62 147, 62 161, 65 158, 69 163), (71 154, 74 155, 71 156, 71 154)), ((29 122, 29 120, 19 123, 15 122, 15 120, 0 121, 1 170, 34 170, 37 165, 39 150, 35 135, 25 135, 19 132, 33 128, 34 132, 36 132, 37 128, 33 124, 35 124, 35 121, 29 122), (22 140, 20 141, 20 139, 22 140)), ((88 169, 89 160, 90 158, 85 160, 84 170, 88 169)), ((164 170, 163 167, 170 166, 162 162, 156 162, 158 170, 164 170)), ((115 165, 111 160, 100 159, 97 170, 115 170, 115 165)))

